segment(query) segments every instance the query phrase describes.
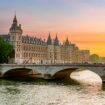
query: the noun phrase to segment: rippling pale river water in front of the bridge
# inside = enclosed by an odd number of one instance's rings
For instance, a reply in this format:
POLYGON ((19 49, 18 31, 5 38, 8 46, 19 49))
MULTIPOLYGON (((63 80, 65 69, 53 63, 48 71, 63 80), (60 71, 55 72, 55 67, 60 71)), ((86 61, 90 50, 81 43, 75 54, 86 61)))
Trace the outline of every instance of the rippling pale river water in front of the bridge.
POLYGON ((97 93, 54 81, 0 80, 0 105, 105 105, 105 84, 97 93))

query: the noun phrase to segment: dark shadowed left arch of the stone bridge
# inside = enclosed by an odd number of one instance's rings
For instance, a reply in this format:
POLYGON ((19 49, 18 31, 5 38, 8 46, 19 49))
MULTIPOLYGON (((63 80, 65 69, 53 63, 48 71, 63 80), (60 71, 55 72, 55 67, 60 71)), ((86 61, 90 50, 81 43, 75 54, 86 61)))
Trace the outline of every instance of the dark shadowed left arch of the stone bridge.
POLYGON ((35 70, 30 68, 13 68, 7 70, 2 77, 22 77, 35 74, 35 70))

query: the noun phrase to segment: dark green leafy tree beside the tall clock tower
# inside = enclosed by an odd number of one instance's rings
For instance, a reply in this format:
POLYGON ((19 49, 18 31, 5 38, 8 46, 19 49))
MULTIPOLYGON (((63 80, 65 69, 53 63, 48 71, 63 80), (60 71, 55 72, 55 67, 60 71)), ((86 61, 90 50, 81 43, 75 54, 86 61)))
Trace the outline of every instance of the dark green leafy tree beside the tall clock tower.
POLYGON ((13 46, 0 37, 0 63, 8 63, 8 58, 13 51, 13 46))

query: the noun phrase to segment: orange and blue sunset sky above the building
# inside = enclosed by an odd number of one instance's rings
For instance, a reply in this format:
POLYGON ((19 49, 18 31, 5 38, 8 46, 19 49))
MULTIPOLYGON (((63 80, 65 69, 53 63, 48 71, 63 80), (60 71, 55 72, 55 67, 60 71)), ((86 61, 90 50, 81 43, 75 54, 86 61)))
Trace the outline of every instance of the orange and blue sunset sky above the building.
POLYGON ((105 0, 0 0, 0 34, 17 15, 23 34, 66 37, 80 49, 105 56, 105 0))

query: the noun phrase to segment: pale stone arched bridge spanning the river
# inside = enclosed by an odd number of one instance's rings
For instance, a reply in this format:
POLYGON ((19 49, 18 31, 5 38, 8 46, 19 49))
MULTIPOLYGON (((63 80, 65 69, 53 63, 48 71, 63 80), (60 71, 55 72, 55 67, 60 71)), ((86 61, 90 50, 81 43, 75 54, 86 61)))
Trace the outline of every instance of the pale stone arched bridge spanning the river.
POLYGON ((0 64, 1 77, 9 76, 16 72, 17 74, 28 75, 29 72, 36 75, 40 74, 44 79, 64 77, 77 69, 89 69, 99 76, 105 76, 105 65, 102 64, 53 64, 53 65, 36 65, 36 64, 0 64))

